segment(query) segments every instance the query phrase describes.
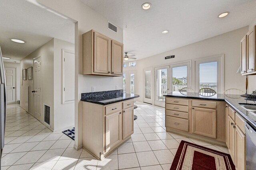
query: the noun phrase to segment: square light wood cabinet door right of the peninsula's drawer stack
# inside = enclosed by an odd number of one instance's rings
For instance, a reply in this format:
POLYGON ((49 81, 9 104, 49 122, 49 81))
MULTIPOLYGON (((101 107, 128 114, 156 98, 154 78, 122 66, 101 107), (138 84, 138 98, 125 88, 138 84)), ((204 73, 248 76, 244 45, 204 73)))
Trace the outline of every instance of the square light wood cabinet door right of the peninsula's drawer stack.
POLYGON ((216 138, 216 110, 192 107, 192 133, 216 138))

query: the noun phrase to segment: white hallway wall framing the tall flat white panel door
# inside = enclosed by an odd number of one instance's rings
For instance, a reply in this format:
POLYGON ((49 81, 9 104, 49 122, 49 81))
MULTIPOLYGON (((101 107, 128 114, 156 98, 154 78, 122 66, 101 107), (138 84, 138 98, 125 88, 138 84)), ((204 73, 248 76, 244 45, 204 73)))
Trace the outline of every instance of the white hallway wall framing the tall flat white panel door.
POLYGON ((75 125, 75 103, 62 104, 62 49, 75 51, 75 45, 54 38, 54 131, 75 125))

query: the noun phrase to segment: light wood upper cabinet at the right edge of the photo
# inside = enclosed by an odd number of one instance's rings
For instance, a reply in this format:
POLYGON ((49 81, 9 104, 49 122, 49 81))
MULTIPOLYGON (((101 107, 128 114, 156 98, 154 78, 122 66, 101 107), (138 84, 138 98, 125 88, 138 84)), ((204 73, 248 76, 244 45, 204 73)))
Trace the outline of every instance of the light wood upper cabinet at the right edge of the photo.
POLYGON ((256 74, 256 26, 241 40, 241 73, 242 75, 256 74))

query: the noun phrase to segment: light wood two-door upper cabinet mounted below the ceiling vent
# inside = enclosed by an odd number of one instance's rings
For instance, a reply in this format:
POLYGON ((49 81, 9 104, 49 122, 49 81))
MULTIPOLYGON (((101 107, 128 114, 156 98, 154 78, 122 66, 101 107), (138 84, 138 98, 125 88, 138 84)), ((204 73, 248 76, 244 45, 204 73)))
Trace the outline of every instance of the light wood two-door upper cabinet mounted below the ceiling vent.
POLYGON ((90 30, 83 34, 83 74, 122 76, 124 45, 90 30))

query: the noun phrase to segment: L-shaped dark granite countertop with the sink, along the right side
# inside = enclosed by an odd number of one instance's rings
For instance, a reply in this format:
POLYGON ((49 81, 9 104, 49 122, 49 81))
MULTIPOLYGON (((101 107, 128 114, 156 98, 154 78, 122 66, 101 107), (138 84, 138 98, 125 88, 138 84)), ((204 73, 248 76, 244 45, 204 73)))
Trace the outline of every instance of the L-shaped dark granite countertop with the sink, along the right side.
POLYGON ((254 101, 245 100, 245 98, 240 95, 229 95, 215 94, 214 96, 201 96, 199 93, 186 93, 181 94, 180 92, 171 92, 166 95, 166 97, 176 97, 176 98, 191 98, 191 99, 203 99, 203 100, 218 100, 227 102, 237 113, 239 113, 247 123, 249 123, 254 129, 256 129, 256 113, 240 106, 239 103, 243 104, 256 104, 254 101))

